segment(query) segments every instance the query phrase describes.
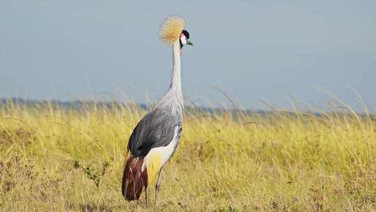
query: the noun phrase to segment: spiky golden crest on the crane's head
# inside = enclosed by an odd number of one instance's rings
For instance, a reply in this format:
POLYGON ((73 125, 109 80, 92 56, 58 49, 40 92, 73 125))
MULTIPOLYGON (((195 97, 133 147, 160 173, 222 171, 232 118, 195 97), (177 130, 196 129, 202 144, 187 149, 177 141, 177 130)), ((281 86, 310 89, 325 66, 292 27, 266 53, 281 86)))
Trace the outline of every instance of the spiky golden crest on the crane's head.
POLYGON ((180 38, 180 33, 184 29, 185 20, 179 16, 170 16, 162 24, 159 29, 159 38, 163 43, 172 45, 180 38))

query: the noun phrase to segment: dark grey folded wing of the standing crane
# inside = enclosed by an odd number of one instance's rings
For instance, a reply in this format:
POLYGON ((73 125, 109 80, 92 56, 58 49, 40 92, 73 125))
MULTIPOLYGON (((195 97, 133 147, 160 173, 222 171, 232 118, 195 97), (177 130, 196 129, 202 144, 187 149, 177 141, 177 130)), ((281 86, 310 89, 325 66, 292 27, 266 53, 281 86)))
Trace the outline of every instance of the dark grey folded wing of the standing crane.
POLYGON ((134 128, 127 148, 132 156, 144 157, 150 149, 167 146, 176 136, 180 138, 182 124, 169 112, 155 110, 148 113, 134 128), (175 130, 178 127, 178 135, 175 130))

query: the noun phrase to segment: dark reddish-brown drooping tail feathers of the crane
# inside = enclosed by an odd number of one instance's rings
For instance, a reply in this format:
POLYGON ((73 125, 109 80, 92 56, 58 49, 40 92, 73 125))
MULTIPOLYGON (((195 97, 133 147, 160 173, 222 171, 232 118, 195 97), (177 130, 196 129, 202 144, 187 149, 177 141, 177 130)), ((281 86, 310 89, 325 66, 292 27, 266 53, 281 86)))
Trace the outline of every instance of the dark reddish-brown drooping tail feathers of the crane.
POLYGON ((127 201, 137 200, 143 187, 148 188, 148 172, 142 171, 143 158, 134 157, 129 153, 123 173, 121 191, 127 201))

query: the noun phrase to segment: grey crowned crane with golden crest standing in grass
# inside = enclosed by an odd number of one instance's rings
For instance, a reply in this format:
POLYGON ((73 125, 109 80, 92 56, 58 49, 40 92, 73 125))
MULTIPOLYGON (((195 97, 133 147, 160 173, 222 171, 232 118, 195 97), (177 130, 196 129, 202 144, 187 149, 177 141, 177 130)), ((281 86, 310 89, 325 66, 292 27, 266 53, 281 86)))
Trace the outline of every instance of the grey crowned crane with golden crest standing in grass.
MULTIPOLYGON (((184 101, 181 84, 182 47, 193 45, 189 32, 184 28, 185 20, 169 16, 159 27, 162 43, 171 45, 173 50, 173 70, 162 99, 135 126, 127 144, 125 168, 121 190, 127 201, 138 200, 141 192, 155 180, 154 210, 159 192, 162 168, 173 156, 182 135, 184 101)), ((146 207, 148 206, 148 195, 146 207)))

